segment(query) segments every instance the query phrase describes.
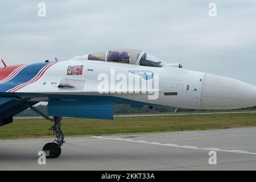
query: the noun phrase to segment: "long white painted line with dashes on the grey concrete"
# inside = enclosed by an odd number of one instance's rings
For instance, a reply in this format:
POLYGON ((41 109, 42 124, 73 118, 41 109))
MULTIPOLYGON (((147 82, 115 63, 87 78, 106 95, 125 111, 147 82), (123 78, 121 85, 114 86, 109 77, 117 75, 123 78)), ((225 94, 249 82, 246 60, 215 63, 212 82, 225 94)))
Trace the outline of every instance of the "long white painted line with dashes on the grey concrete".
POLYGON ((156 145, 168 146, 168 147, 190 148, 190 149, 195 149, 195 150, 209 150, 209 151, 214 150, 214 151, 221 151, 221 152, 256 155, 256 153, 249 152, 249 151, 242 151, 242 150, 223 150, 221 148, 199 148, 199 147, 195 147, 195 146, 179 146, 177 144, 171 144, 171 143, 164 144, 164 143, 159 143, 159 142, 145 142, 142 140, 131 140, 131 139, 121 139, 121 138, 110 138, 110 137, 96 137, 96 136, 92 136, 92 137, 99 138, 99 139, 121 140, 121 141, 126 141, 126 142, 156 144, 156 145))

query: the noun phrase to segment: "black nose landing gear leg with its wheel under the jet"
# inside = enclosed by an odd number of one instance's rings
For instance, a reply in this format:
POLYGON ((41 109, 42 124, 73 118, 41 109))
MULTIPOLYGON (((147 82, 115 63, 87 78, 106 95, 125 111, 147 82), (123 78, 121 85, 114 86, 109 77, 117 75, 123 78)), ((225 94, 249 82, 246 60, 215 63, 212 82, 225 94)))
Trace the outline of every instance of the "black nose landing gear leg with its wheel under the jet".
POLYGON ((49 129, 53 131, 53 135, 56 135, 56 138, 52 143, 47 143, 43 147, 43 151, 46 151, 46 158, 58 158, 61 154, 61 146, 64 142, 64 135, 60 129, 61 126, 61 117, 53 117, 51 119, 55 124, 49 129), (56 143, 55 143, 56 142, 56 143))

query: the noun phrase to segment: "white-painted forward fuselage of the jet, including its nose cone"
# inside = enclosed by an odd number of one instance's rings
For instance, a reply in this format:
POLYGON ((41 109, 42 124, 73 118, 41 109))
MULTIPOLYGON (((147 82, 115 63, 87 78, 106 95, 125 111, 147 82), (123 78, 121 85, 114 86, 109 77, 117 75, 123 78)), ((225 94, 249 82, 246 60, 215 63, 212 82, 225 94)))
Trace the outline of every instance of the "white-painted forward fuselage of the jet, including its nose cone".
MULTIPOLYGON (((154 79, 155 77, 152 78, 152 80, 154 79)), ((255 86, 232 78, 177 67, 144 67, 89 60, 60 61, 49 68, 38 81, 18 90, 18 93, 114 96, 148 105, 187 109, 237 109, 256 105, 255 86), (67 68, 76 65, 84 67, 82 75, 67 75, 67 68), (137 93, 130 92, 132 90, 129 90, 129 84, 127 88, 118 90, 116 84, 121 81, 118 79, 119 73, 128 78, 131 72, 152 72, 154 75, 159 75, 159 87, 155 90, 158 91, 158 97, 149 100, 148 96, 152 93, 147 89, 138 90, 137 93), (110 78, 108 88, 106 86, 103 88, 104 93, 99 92, 102 74, 108 75, 110 78), (115 86, 111 81, 113 74, 115 86), (63 85, 64 88, 60 88, 58 85, 63 85)))

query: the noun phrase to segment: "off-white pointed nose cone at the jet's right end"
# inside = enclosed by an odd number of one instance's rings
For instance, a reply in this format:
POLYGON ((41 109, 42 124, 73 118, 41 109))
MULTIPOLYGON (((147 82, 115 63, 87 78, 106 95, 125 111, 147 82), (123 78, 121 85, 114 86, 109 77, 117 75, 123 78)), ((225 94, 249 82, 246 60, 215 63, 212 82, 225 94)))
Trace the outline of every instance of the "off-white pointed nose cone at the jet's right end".
POLYGON ((256 106, 256 87, 233 78, 205 73, 201 109, 240 109, 256 106))

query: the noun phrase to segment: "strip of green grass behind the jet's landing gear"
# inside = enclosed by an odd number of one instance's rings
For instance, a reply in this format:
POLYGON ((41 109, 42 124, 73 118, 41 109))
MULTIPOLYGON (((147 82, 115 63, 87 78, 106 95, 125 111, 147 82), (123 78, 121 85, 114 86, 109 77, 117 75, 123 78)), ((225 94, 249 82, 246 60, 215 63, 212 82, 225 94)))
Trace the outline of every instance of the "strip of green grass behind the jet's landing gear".
MULTIPOLYGON (((14 119, 0 127, 0 139, 52 137, 47 129, 52 123, 45 119, 14 119)), ((66 137, 158 131, 212 130, 256 126, 256 114, 205 114, 150 117, 118 117, 114 121, 97 119, 63 119, 66 137)))

